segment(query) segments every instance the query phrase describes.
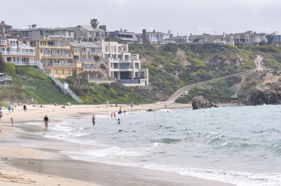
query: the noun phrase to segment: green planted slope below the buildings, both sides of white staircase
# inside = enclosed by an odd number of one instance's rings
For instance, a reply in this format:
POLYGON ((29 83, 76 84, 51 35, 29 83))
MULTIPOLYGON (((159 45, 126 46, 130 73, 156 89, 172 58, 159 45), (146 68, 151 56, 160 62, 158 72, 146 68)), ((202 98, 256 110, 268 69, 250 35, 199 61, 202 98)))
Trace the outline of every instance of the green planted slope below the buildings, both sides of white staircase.
MULTIPOLYGON (((6 102, 28 104, 64 105, 67 102, 79 104, 70 96, 61 92, 54 82, 47 78, 43 72, 37 71, 34 66, 13 65, 5 63, 0 56, 0 72, 12 76, 12 85, 0 86, 0 105, 7 106, 6 102), (31 100, 33 98, 36 102, 31 100), (38 102, 38 103, 37 103, 38 102)), ((84 104, 103 104, 105 101, 120 104, 132 101, 138 103, 153 103, 132 93, 126 86, 119 83, 100 84, 89 83, 87 79, 80 79, 80 87, 76 87, 76 78, 68 77, 60 79, 62 83, 67 81, 69 88, 76 93, 84 104)))

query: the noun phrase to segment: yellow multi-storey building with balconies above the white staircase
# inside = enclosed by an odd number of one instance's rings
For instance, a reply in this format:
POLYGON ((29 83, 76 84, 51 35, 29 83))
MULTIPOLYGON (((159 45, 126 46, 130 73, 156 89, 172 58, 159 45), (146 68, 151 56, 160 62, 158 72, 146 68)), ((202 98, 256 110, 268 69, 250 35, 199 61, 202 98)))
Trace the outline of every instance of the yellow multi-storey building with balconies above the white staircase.
POLYGON ((30 46, 35 48, 36 58, 44 68, 55 77, 77 77, 79 74, 79 68, 82 66, 81 63, 73 63, 69 40, 42 36, 42 38, 30 39, 30 46))

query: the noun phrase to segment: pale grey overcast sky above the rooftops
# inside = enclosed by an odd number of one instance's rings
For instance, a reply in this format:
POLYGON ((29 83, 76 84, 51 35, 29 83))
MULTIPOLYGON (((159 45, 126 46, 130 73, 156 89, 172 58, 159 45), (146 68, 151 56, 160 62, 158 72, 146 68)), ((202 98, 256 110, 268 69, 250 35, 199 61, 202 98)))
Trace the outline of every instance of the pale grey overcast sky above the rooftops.
POLYGON ((96 18, 107 31, 172 30, 174 36, 239 33, 281 34, 279 0, 0 0, 1 20, 13 28, 74 27, 96 18))

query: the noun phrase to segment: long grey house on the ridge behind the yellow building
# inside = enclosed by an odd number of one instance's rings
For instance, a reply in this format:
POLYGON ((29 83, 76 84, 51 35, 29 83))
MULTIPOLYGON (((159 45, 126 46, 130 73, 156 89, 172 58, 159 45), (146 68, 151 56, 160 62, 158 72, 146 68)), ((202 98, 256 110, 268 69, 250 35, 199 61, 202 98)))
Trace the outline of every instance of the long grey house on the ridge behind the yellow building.
POLYGON ((42 36, 51 36, 56 39, 73 40, 74 29, 70 28, 37 28, 37 25, 30 25, 23 29, 12 29, 12 35, 15 32, 21 32, 25 39, 40 38, 42 36))

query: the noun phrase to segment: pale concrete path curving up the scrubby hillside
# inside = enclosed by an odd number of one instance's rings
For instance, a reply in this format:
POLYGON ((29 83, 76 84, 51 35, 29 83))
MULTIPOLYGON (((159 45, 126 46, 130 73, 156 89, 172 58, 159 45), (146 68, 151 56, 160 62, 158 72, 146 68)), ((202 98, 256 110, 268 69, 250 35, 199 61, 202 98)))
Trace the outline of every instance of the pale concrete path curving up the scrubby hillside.
POLYGON ((194 84, 191 84, 191 85, 184 86, 184 87, 180 88, 179 90, 177 90, 177 91, 165 102, 165 104, 172 104, 172 103, 174 103, 175 100, 176 100, 177 98, 179 98, 183 93, 189 91, 191 88, 193 88, 193 87, 195 87, 195 86, 198 86, 198 85, 201 85, 201 84, 206 84, 206 83, 209 83, 209 82, 214 81, 214 80, 217 80, 217 79, 224 79, 224 78, 232 77, 232 76, 241 76, 241 75, 245 75, 245 74, 248 74, 248 73, 251 73, 251 72, 255 72, 256 70, 263 70, 264 68, 263 68, 262 65, 261 65, 261 61, 262 61, 262 60, 263 60, 263 56, 257 54, 257 58, 253 61, 253 62, 255 63, 255 65, 257 66, 257 68, 254 69, 254 70, 249 70, 249 71, 245 71, 245 72, 240 72, 240 73, 237 73, 237 74, 232 74, 232 75, 229 75, 229 76, 220 77, 220 78, 216 78, 216 79, 210 79, 210 80, 207 80, 207 81, 202 81, 202 82, 198 82, 198 83, 194 83, 194 84), (257 65, 257 62, 258 62, 258 65, 257 65))

